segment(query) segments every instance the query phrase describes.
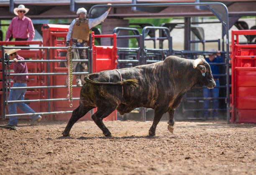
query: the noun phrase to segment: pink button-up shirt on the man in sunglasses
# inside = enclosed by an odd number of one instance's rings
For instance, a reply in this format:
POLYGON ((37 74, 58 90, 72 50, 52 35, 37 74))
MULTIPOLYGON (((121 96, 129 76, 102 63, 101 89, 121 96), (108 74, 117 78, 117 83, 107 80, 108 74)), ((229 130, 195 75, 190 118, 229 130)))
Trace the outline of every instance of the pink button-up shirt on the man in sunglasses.
POLYGON ((13 34, 13 38, 28 38, 28 41, 33 40, 35 36, 35 29, 30 18, 24 16, 21 20, 19 17, 14 17, 6 32, 5 41, 13 34))

